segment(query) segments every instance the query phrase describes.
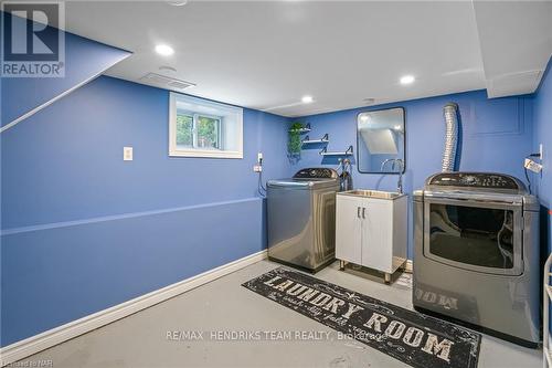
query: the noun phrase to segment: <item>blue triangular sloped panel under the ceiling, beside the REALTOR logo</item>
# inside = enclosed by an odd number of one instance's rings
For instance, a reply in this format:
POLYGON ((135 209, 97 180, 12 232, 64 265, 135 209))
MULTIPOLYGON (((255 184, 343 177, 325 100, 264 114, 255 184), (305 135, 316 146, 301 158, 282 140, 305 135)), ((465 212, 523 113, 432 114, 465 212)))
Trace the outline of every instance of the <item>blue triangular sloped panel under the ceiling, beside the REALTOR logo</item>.
MULTIPOLYGON (((12 19, 13 22, 25 21, 19 17, 12 19)), ((65 76, 2 78, 2 126, 102 74, 129 54, 128 51, 65 32, 65 76)))

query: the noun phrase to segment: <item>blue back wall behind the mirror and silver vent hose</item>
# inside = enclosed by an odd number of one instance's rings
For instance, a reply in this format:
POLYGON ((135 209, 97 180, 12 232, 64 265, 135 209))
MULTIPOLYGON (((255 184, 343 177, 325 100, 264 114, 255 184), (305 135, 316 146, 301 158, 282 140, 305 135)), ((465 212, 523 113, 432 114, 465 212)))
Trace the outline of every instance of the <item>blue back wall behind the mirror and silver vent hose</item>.
MULTIPOLYGON (((443 106, 456 102, 461 115, 460 170, 497 171, 523 177, 523 158, 532 150, 532 99, 530 96, 488 99, 485 91, 453 94, 402 103, 354 108, 297 118, 310 123, 311 138, 329 134, 328 150, 343 151, 357 147, 357 115, 361 112, 397 107, 405 108, 406 172, 404 191, 422 188, 424 180, 440 170, 445 123, 443 106)), ((319 147, 302 151, 297 167, 335 167, 337 158, 322 160, 319 147)), ((354 160, 357 158, 354 157, 354 160)), ((360 174, 353 167, 355 188, 396 190, 396 175, 360 174)), ((412 203, 411 203, 412 206, 412 203)), ((410 212, 412 213, 412 212, 410 212)), ((410 221, 412 242, 412 219, 410 221)), ((412 259, 412 244, 408 244, 412 259)))

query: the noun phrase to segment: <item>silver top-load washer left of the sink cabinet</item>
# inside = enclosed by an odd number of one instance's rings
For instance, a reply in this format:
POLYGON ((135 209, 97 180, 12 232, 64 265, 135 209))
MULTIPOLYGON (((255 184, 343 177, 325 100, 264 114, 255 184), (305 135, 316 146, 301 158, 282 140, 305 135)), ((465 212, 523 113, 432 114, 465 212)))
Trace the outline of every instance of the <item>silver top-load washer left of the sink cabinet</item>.
POLYGON ((268 257, 317 272, 336 253, 336 192, 329 168, 306 168, 267 182, 268 257))

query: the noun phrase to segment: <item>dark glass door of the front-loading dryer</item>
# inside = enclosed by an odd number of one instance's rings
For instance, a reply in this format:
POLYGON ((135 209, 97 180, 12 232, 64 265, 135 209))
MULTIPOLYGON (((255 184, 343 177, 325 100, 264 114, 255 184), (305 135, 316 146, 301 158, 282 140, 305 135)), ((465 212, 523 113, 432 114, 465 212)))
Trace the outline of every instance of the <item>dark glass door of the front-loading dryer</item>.
POLYGON ((521 209, 503 202, 426 199, 424 255, 459 269, 521 275, 521 209))

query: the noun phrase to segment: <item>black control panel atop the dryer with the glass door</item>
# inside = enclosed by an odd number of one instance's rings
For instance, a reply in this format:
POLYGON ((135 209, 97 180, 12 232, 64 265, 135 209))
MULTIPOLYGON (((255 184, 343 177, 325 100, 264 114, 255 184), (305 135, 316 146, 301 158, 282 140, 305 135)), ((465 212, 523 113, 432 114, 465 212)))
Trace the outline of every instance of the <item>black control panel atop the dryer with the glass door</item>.
POLYGON ((524 190, 523 185, 508 175, 487 172, 443 172, 429 178, 429 186, 471 187, 524 190))

